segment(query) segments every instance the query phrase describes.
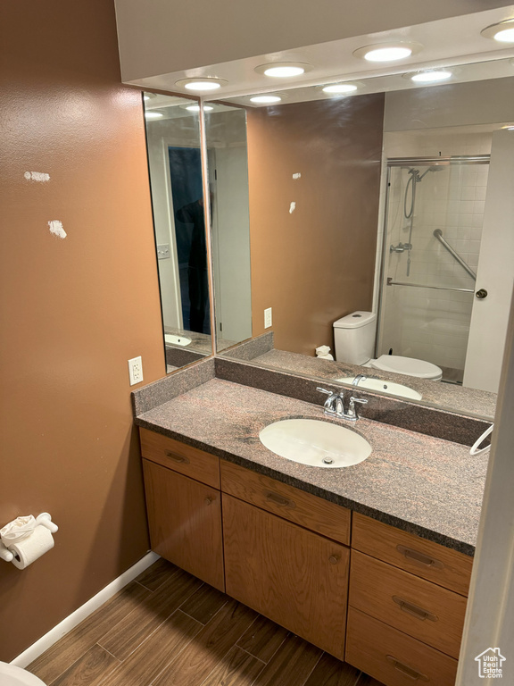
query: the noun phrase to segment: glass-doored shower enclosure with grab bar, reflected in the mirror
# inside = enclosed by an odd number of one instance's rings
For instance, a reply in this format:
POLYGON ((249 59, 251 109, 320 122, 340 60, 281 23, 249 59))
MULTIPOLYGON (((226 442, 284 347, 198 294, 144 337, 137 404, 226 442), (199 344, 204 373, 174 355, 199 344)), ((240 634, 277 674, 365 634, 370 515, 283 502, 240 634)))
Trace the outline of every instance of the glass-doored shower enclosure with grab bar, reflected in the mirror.
POLYGON ((377 355, 462 381, 488 170, 489 155, 387 160, 377 355))

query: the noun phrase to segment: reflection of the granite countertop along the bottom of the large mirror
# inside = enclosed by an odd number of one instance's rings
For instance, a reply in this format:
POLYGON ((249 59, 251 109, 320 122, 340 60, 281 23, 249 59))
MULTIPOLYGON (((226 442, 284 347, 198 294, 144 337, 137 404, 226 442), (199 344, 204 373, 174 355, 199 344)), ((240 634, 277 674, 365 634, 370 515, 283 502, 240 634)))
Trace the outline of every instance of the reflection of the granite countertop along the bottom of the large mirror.
MULTIPOLYGON (((310 377, 335 381, 344 376, 366 374, 369 377, 384 381, 395 381, 417 390, 423 405, 449 407, 452 412, 465 413, 471 416, 486 417, 493 421, 496 408, 496 393, 486 390, 462 388, 452 383, 418 379, 380 369, 370 369, 357 364, 347 364, 319 357, 289 353, 286 350, 269 350, 260 356, 253 357, 252 364, 262 364, 272 369, 286 370, 296 374, 307 374, 310 377)), ((375 392, 375 391, 373 391, 375 392)))

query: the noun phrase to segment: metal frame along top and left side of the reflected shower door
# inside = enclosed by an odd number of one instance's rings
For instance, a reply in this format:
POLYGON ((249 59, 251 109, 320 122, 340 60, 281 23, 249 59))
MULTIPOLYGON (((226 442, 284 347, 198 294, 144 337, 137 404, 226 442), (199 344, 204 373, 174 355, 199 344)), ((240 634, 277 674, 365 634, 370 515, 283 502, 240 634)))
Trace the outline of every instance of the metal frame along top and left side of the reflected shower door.
MULTIPOLYGON (((452 155, 447 157, 387 157, 386 158, 386 200, 382 217, 382 248, 380 257, 380 269, 377 274, 378 298, 377 298, 377 336, 375 337, 375 357, 378 356, 379 344, 381 344, 381 324, 383 318, 383 305, 386 289, 386 258, 389 248, 387 236, 387 220, 389 217, 389 189, 391 188, 391 169, 393 167, 415 166, 450 166, 452 164, 489 164, 491 155, 452 155)), ((414 286, 412 286, 414 288, 414 286)), ((429 288, 425 286, 424 288, 429 288)))

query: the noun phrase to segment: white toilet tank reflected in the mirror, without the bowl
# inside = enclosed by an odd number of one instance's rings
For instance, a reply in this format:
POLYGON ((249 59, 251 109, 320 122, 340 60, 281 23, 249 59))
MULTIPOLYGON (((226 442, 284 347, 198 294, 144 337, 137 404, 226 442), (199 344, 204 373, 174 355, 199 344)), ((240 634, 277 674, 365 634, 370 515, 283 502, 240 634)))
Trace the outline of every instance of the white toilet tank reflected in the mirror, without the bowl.
POLYGON ((377 315, 353 312, 334 322, 337 362, 365 364, 375 352, 377 315))

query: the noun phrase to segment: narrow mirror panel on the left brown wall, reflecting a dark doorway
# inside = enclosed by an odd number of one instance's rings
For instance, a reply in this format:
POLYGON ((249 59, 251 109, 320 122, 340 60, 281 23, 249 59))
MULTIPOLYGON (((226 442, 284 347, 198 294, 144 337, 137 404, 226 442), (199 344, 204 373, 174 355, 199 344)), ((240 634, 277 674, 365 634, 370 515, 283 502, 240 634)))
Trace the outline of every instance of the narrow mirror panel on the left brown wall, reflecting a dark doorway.
POLYGON ((200 105, 144 93, 167 372, 211 355, 200 105))

